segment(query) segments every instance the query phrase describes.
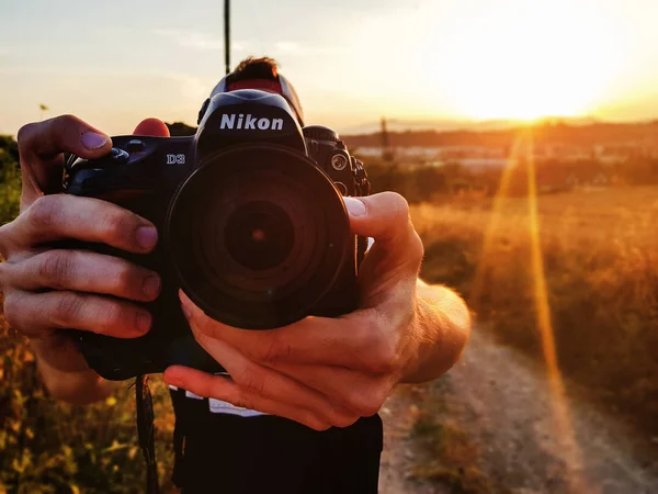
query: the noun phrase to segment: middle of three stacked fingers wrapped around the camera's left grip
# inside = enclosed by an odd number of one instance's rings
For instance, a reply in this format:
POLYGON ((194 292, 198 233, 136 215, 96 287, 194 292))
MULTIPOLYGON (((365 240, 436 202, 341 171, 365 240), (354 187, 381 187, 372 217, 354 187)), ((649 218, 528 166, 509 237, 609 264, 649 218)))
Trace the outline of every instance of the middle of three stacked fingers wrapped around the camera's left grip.
POLYGON ((140 302, 150 302, 160 292, 156 272, 87 250, 47 250, 22 262, 4 262, 0 268, 4 283, 25 291, 49 288, 140 302))

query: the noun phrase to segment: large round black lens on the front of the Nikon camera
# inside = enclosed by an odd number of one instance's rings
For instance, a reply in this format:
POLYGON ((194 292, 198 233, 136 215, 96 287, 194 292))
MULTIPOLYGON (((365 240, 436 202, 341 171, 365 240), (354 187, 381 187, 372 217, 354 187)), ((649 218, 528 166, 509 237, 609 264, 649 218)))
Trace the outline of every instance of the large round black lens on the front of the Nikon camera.
POLYGON ((355 251, 329 178, 306 156, 266 144, 203 159, 170 204, 164 239, 192 301, 242 328, 307 315, 355 251))

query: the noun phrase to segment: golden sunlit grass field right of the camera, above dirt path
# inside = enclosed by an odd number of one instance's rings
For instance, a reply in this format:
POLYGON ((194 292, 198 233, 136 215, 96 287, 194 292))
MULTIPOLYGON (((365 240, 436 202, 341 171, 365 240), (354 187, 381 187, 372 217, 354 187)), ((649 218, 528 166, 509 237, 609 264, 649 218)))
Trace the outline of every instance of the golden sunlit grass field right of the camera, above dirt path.
POLYGON ((412 216, 428 281, 456 287, 484 327, 538 359, 548 327, 563 374, 658 434, 658 188, 540 195, 536 210, 452 200, 412 216))

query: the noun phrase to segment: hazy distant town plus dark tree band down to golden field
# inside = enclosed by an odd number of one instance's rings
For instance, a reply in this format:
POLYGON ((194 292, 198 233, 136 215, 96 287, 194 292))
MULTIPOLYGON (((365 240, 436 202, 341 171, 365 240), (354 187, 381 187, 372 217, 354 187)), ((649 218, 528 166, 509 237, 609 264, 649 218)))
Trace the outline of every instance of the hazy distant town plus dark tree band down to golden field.
POLYGON ((368 169, 389 165, 416 170, 422 180, 434 169, 443 176, 436 183, 449 192, 457 187, 491 194, 502 170, 512 169, 518 170, 514 187, 523 193, 529 161, 542 192, 658 183, 658 121, 577 125, 553 120, 506 130, 388 132, 383 120, 379 132, 342 138, 368 169), (420 168, 427 171, 419 175, 420 168))

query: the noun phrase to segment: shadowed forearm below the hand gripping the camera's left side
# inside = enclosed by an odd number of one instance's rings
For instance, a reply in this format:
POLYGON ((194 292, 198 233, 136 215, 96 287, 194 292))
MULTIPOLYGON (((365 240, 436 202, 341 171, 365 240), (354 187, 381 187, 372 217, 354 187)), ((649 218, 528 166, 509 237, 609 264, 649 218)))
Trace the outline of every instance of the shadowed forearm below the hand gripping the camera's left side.
POLYGON ((44 384, 56 400, 86 405, 110 395, 114 383, 87 366, 76 346, 66 338, 33 339, 31 346, 44 384))

